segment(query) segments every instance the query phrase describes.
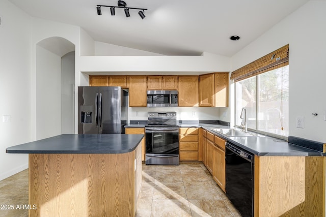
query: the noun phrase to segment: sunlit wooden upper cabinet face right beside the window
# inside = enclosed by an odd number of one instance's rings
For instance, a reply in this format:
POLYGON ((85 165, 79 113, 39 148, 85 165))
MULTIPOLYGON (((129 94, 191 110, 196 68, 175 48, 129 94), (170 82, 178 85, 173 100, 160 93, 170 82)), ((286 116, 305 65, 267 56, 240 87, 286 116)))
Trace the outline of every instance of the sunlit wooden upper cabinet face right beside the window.
POLYGON ((214 102, 215 107, 229 106, 229 73, 214 74, 214 102))

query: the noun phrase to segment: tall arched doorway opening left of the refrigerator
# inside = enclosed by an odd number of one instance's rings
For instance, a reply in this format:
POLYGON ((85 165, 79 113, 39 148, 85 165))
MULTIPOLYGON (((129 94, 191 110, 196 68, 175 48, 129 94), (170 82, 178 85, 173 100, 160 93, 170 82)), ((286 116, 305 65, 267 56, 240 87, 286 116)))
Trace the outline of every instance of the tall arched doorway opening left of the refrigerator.
POLYGON ((36 44, 36 138, 74 133, 75 45, 61 37, 36 44))

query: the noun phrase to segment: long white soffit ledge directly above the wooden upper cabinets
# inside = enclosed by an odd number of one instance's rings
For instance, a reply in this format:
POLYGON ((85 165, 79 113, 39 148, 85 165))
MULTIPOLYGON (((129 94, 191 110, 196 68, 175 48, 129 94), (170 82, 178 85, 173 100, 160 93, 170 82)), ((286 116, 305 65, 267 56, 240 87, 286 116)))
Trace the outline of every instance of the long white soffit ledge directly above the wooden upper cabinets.
POLYGON ((231 58, 204 52, 201 56, 81 56, 80 71, 195 73, 229 72, 231 58))

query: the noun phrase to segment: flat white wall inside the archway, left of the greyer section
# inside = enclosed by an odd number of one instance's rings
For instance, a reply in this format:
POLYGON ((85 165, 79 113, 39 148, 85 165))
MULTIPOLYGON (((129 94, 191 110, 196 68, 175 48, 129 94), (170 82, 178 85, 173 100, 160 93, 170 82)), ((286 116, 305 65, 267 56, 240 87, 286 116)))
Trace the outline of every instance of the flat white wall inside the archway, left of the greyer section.
POLYGON ((61 56, 36 45, 36 139, 61 134, 61 56))

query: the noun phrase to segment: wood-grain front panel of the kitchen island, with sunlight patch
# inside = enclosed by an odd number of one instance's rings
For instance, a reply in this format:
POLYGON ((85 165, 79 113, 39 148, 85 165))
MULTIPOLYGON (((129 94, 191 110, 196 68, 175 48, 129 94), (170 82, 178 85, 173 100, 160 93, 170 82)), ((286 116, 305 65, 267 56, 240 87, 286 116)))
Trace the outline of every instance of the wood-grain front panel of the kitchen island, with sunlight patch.
POLYGON ((29 154, 29 215, 134 216, 134 155, 29 154))

